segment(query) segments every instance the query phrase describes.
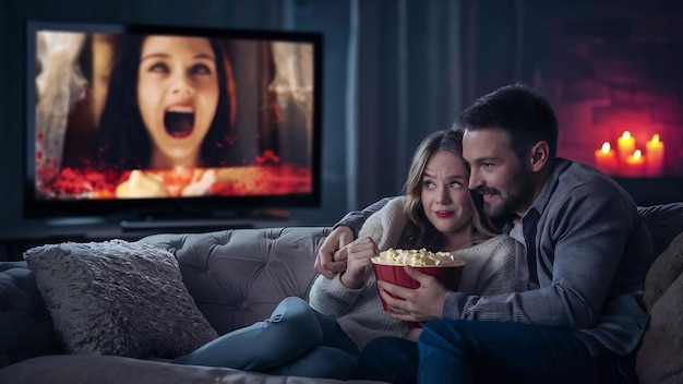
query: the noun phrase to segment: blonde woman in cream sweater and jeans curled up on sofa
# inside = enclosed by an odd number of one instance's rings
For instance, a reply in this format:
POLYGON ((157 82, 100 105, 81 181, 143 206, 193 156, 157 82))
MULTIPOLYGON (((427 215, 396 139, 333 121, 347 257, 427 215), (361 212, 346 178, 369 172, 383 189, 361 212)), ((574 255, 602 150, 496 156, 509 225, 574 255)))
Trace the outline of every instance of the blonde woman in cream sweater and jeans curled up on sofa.
MULTIPOLYGON (((515 241, 494 237, 495 231, 483 221, 467 188, 469 172, 462 151, 459 133, 453 131, 435 132, 422 141, 405 196, 366 223, 359 239, 348 245, 344 274, 315 280, 310 307, 301 299, 287 298, 265 322, 224 335, 173 362, 352 377, 359 350, 371 339, 399 336, 415 340, 419 334, 382 309, 370 259, 390 247, 456 252, 468 263, 460 286, 464 291, 514 290, 515 241)), ((441 286, 443 305, 445 287, 435 279, 431 284, 441 286)))

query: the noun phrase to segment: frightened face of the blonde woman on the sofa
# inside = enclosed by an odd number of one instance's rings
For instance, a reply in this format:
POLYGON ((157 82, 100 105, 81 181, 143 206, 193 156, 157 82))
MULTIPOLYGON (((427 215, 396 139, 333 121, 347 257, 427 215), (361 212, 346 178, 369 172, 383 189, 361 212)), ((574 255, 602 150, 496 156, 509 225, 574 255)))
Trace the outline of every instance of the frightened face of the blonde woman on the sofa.
POLYGON ((446 238, 471 232, 472 206, 463 160, 447 151, 434 153, 422 173, 424 215, 446 238))

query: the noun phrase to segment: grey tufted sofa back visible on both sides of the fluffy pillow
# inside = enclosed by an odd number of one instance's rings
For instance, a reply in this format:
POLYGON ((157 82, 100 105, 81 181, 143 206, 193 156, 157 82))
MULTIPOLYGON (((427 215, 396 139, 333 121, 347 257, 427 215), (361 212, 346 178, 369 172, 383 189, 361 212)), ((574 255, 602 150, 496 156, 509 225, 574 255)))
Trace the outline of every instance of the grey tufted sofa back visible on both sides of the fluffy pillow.
MULTIPOLYGON (((141 241, 176 255, 199 309, 224 334, 266 319, 286 297, 308 299, 314 257, 328 232, 321 227, 230 229, 141 241)), ((56 353, 63 350, 26 262, 1 262, 0 368, 56 353)))

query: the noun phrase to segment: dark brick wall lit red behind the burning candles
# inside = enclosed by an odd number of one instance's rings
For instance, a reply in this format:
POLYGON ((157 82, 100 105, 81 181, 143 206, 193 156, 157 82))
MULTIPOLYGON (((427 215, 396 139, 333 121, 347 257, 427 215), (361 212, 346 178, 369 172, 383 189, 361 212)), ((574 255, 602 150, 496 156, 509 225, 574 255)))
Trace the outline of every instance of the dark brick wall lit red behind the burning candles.
POLYGON ((526 74, 556 108, 560 156, 594 164, 624 130, 643 151, 658 133, 664 173, 683 176, 682 1, 528 0, 523 25, 526 74))

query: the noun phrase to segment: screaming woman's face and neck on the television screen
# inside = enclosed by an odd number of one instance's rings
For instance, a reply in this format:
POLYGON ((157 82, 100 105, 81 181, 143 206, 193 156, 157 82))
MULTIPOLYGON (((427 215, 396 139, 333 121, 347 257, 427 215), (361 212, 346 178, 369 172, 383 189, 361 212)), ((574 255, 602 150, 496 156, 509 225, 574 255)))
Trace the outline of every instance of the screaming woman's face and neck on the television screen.
POLYGON ((137 106, 154 144, 151 168, 200 165, 202 141, 218 105, 216 65, 205 38, 145 38, 137 106))

